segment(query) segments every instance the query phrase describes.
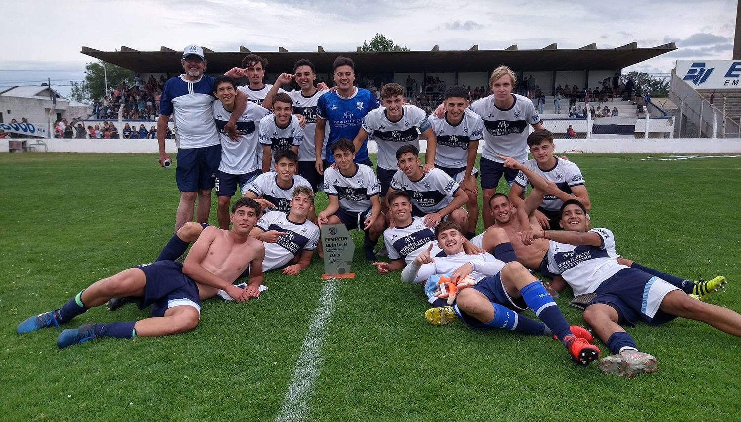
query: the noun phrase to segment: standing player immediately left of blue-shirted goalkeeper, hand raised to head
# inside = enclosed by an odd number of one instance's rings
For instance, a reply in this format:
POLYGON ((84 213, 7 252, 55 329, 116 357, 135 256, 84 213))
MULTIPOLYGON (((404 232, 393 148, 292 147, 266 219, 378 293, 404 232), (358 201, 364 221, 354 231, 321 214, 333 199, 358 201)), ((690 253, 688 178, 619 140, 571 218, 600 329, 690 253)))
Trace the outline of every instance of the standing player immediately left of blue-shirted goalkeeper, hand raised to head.
MULTIPOLYGON (((301 90, 292 90, 288 96, 293 100, 293 113, 304 116, 306 126, 304 127, 304 141, 299 146, 299 175, 309 181, 314 192, 319 184, 324 181, 322 175, 316 172, 316 148, 314 145, 314 131, 316 130, 316 103, 319 97, 328 93, 327 85, 320 83, 314 87, 316 81, 316 71, 314 65, 305 58, 296 61, 293 64, 293 75, 290 73, 281 73, 276 79, 275 85, 270 88, 270 92, 265 96, 263 105, 273 107, 273 96, 278 93, 278 87, 282 84, 288 84, 292 79, 296 80, 301 90)), ((325 138, 319 158, 324 157, 327 146, 327 135, 329 131, 325 130, 325 138)))

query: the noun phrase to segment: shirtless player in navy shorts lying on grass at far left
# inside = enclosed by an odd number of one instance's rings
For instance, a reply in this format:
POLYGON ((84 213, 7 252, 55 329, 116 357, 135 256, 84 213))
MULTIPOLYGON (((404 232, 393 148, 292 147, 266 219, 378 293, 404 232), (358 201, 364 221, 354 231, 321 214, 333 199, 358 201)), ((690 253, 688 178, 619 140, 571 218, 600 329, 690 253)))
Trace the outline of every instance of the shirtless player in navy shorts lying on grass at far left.
POLYGON ((125 269, 82 290, 61 308, 32 316, 19 324, 19 333, 59 326, 91 307, 116 296, 139 296, 140 309, 151 305, 153 318, 112 324, 87 323, 65 329, 59 335, 60 349, 99 337, 156 337, 186 332, 198 325, 200 300, 216 295, 220 289, 236 301, 259 296, 262 284, 262 242, 250 238, 260 215, 260 206, 242 198, 233 205, 232 230, 208 227, 196 241, 184 264, 157 261, 125 269), (250 267, 250 283, 241 289, 233 281, 250 267))

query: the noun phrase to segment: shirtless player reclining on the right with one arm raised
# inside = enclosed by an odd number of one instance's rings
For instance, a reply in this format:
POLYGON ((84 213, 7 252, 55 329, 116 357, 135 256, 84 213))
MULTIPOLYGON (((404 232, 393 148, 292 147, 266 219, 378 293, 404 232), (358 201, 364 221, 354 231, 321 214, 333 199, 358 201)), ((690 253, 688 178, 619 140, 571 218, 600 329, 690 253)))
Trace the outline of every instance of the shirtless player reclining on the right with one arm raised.
MULTIPOLYGON (((542 230, 540 222, 534 216, 535 210, 542 204, 542 198, 545 195, 545 190, 548 189, 548 182, 542 177, 537 175, 534 170, 525 167, 512 158, 504 157, 505 165, 509 168, 520 169, 522 173, 528 178, 530 183, 533 185, 533 190, 528 195, 525 201, 522 201, 522 206, 519 210, 515 210, 510 202, 510 198, 502 193, 496 193, 489 199, 489 209, 494 213, 494 220, 496 224, 494 227, 502 227, 507 232, 507 237, 512 242, 512 248, 517 255, 517 261, 525 267, 534 271, 539 271, 540 275, 546 278, 551 278, 551 286, 560 291, 565 286, 565 281, 560 275, 551 274, 548 271, 548 241, 545 239, 536 239, 531 244, 525 245, 520 241, 519 233, 525 230, 542 230)), ((587 221, 589 219, 587 218, 587 221)), ((483 249, 488 249, 487 246, 480 246, 483 249)), ((630 261, 628 259, 619 257, 619 264, 625 264, 628 267, 640 269, 643 272, 648 272, 651 275, 655 275, 664 281, 668 281, 674 286, 679 287, 688 295, 693 295, 696 298, 705 300, 711 294, 716 291, 722 284, 725 283, 725 278, 716 277, 710 281, 690 281, 685 278, 677 277, 677 275, 666 274, 660 272, 657 269, 651 269, 644 267, 637 262, 630 261)), ((547 284, 548 285, 548 284, 547 284)), ((549 286, 549 287, 551 287, 549 286)))

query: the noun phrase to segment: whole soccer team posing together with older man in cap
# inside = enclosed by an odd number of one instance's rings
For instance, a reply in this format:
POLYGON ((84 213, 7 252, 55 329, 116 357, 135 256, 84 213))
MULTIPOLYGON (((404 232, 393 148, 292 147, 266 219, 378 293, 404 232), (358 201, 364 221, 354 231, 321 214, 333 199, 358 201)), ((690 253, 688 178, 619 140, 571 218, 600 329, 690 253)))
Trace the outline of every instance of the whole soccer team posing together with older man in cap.
POLYGON ((691 318, 741 336, 741 315, 705 302, 725 278, 693 282, 644 267, 617 253, 610 230, 591 227, 579 167, 554 155, 553 134, 532 102, 511 92, 516 76, 508 67, 491 73, 492 95, 469 104, 465 89, 450 87, 428 116, 405 104, 398 84, 382 87, 380 102, 354 87, 350 58, 336 58, 332 90, 315 86, 305 59, 274 85, 263 83, 268 63, 256 55, 216 78, 203 74, 207 61, 196 45, 185 48, 181 63, 185 73, 162 92, 157 130, 162 164, 170 159, 164 134, 173 116, 181 192, 175 235, 152 263, 91 284, 59 309, 21 322, 19 333, 134 299, 151 307, 152 318, 64 329, 58 346, 185 332, 198 324, 203 299, 258 298, 264 272, 296 275, 315 249, 321 255, 318 226, 345 224, 365 233, 365 258, 379 274, 401 270, 402 281, 424 284, 425 318, 434 325, 459 319, 473 329, 547 335, 576 364, 588 364, 600 355, 591 332, 569 325, 551 295, 568 284, 571 304, 612 352, 599 359, 605 373, 656 370, 656 358, 622 329, 640 320, 691 318), (250 84, 238 87, 242 76, 250 84), (280 88, 292 80, 301 90, 280 88), (368 139, 378 148, 377 173, 368 139), (479 174, 485 231, 476 235, 479 174), (496 192, 502 175, 508 195, 496 192), (328 206, 317 213, 320 184, 328 206), (214 187, 218 227, 206 223, 214 187), (238 187, 242 198, 231 204, 238 187), (376 261, 381 237, 389 261, 376 261), (551 281, 543 284, 535 271, 551 281), (247 283, 234 284, 242 276, 247 283), (526 309, 540 321, 522 315, 526 309))

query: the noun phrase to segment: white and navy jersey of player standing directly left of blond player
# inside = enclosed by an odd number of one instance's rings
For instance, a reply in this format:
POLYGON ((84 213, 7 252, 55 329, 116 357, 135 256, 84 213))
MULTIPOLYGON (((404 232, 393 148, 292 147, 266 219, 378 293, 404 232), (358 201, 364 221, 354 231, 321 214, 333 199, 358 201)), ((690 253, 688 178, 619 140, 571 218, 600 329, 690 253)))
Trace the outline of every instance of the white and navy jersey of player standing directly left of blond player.
POLYGON ((468 144, 479 141, 482 137, 483 121, 481 116, 465 109, 461 121, 453 126, 447 118, 430 115, 430 124, 437 138, 435 165, 449 169, 465 170, 468 163, 468 144))

